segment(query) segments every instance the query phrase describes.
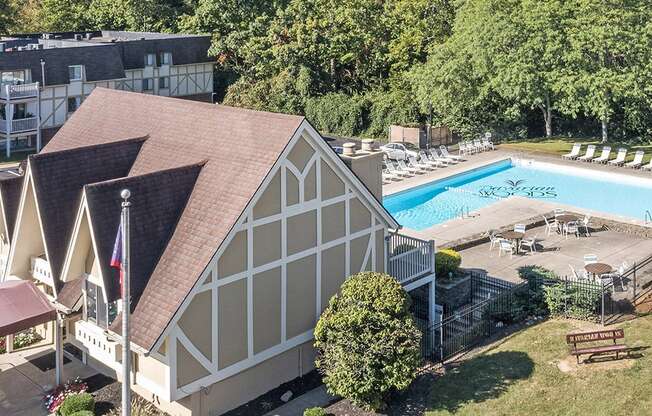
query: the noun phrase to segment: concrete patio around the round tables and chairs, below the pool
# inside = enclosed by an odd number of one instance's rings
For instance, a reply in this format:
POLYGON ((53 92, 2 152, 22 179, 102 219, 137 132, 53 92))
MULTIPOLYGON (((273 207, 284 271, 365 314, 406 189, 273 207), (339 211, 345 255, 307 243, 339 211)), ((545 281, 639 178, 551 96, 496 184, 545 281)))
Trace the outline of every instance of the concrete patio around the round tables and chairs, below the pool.
POLYGON ((553 270, 560 276, 571 274, 570 266, 582 271, 584 255, 596 254, 601 263, 618 267, 623 261, 632 265, 652 253, 652 239, 636 237, 615 231, 596 231, 591 237, 565 237, 545 234, 545 227, 528 230, 529 237, 537 236, 539 252, 498 256, 498 248, 489 250, 489 243, 462 250, 462 268, 487 272, 489 276, 519 282, 518 268, 539 265, 553 270))

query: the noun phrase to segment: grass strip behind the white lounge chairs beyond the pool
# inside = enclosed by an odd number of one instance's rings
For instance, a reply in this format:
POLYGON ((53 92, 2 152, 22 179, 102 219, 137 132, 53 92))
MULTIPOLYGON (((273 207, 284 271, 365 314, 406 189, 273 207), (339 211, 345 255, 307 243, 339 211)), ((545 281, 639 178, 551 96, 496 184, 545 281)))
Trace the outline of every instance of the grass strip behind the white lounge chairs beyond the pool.
MULTIPOLYGON (((596 153, 595 157, 600 156, 600 151, 602 149, 602 144, 600 142, 600 139, 573 139, 573 138, 545 139, 544 138, 544 139, 525 140, 520 142, 501 143, 500 147, 501 149, 507 149, 507 150, 540 152, 540 153, 548 153, 548 154, 561 156, 563 154, 570 152, 571 148, 573 147, 573 143, 582 143, 582 151, 580 152, 581 154, 584 154, 584 151, 586 150, 586 145, 595 144, 598 146, 595 152, 596 153)), ((644 150, 648 154, 648 156, 646 156, 643 159, 645 162, 647 162, 649 160, 649 156, 652 155, 652 143, 632 145, 626 142, 609 142, 606 145, 611 146, 612 159, 616 157, 616 151, 619 147, 624 147, 630 150, 630 152, 627 155, 627 160, 631 160, 634 158, 634 151, 636 150, 644 150)))

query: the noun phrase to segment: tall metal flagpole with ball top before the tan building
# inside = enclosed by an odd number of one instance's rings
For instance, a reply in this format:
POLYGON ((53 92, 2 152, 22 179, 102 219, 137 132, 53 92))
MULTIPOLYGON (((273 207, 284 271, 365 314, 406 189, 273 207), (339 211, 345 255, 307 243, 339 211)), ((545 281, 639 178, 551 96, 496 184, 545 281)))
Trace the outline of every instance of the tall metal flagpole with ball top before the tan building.
POLYGON ((123 189, 122 197, 122 416, 131 415, 131 344, 129 340, 129 197, 123 189))

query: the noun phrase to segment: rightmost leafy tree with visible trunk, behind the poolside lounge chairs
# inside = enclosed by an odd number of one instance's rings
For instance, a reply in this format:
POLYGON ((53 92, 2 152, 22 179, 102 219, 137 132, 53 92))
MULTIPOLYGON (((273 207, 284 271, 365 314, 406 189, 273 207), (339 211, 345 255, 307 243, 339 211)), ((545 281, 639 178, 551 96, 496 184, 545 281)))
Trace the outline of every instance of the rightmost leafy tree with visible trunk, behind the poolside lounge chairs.
POLYGON ((652 10, 645 0, 579 0, 569 26, 570 70, 562 82, 600 120, 604 143, 617 106, 649 100, 652 10))

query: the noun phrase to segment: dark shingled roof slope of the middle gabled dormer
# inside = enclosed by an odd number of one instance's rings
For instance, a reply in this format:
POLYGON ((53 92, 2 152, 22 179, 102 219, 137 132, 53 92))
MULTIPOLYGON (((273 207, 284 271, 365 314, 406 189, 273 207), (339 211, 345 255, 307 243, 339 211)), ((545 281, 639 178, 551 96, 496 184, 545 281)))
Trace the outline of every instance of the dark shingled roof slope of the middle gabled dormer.
POLYGON ((91 144, 30 155, 29 167, 43 224, 44 244, 57 288, 81 190, 85 184, 126 176, 145 138, 91 144))

